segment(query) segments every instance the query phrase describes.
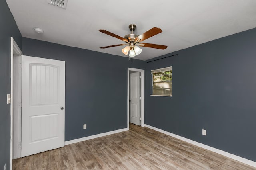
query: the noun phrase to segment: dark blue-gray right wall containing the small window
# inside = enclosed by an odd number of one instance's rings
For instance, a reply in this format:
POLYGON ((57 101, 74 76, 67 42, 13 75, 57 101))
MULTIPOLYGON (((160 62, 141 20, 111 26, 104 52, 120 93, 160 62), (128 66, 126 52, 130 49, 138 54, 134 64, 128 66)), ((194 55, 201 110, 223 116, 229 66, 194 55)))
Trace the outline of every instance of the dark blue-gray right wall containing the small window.
POLYGON ((158 58, 173 54, 147 63, 145 123, 256 161, 256 29, 158 58), (150 70, 168 66, 172 97, 150 96, 150 70))

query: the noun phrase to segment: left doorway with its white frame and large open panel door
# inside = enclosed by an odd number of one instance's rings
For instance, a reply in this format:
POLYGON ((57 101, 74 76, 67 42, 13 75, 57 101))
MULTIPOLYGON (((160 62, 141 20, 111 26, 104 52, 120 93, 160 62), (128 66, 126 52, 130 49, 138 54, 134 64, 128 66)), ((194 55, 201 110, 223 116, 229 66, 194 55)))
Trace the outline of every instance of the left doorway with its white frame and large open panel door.
POLYGON ((22 56, 13 38, 11 47, 10 169, 12 159, 63 147, 65 126, 65 61, 22 56))

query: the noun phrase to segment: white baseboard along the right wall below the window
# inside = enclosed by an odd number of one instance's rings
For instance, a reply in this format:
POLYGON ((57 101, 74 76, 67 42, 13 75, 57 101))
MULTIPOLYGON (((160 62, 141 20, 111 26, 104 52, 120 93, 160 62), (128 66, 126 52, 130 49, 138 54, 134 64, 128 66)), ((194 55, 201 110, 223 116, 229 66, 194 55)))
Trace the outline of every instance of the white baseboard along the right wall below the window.
POLYGON ((242 162, 242 163, 244 163, 244 164, 248 164, 248 165, 253 166, 253 167, 256 168, 256 162, 254 162, 254 161, 252 161, 252 160, 248 160, 248 159, 246 159, 246 158, 242 158, 242 157, 240 157, 240 156, 236 156, 236 155, 234 155, 234 154, 225 152, 225 151, 223 151, 223 150, 216 149, 216 148, 214 148, 214 147, 210 147, 210 146, 208 146, 208 145, 204 145, 204 144, 199 143, 199 142, 196 142, 196 141, 192 141, 192 140, 187 139, 187 138, 185 138, 185 137, 181 137, 181 136, 179 136, 179 135, 175 135, 175 134, 173 134, 173 133, 164 131, 164 130, 162 130, 162 129, 158 129, 158 128, 153 127, 153 126, 150 126, 150 125, 146 125, 146 124, 145 124, 145 127, 148 127, 148 128, 153 129, 153 130, 155 130, 155 131, 158 131, 158 132, 164 133, 164 134, 166 134, 166 135, 175 137, 175 138, 180 139, 180 140, 182 140, 182 141, 191 143, 191 144, 196 145, 196 146, 198 146, 198 147, 201 147, 201 148, 210 150, 210 151, 212 151, 212 152, 221 154, 221 155, 223 155, 223 156, 226 156, 226 157, 228 157, 228 158, 237 160, 237 161, 239 161, 239 162, 242 162))

